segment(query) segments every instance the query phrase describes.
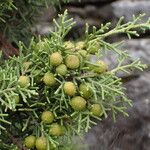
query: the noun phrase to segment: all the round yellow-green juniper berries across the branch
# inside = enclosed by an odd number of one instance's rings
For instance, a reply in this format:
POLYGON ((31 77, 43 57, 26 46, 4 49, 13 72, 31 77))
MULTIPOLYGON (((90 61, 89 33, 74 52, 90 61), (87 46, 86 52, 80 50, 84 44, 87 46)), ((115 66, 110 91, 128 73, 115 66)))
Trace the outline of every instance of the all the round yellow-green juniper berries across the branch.
MULTIPOLYGON (((93 72, 94 74, 102 74, 107 71, 107 64, 103 61, 98 61, 95 64, 83 63, 83 61, 86 62, 86 60, 90 61, 90 55, 95 55, 99 51, 98 42, 85 46, 84 42, 73 44, 67 41, 64 45, 65 53, 57 51, 49 55, 48 61, 50 66, 52 66, 52 71, 46 72, 41 78, 41 81, 46 87, 53 89, 53 87, 58 85, 57 79, 59 79, 60 76, 63 77, 61 88, 65 96, 69 97, 68 104, 72 112, 88 110, 91 115, 101 117, 103 115, 101 105, 96 102, 92 102, 92 104, 89 102, 89 100, 93 98, 93 89, 90 83, 85 80, 80 80, 79 82, 73 80, 74 76, 81 75, 82 73, 93 72), (86 69, 84 70, 82 68, 86 69)), ((25 75, 20 76, 18 79, 18 84, 21 88, 30 86, 30 82, 30 78, 25 75)), ((49 135, 56 137, 64 135, 65 132, 67 132, 65 126, 54 123, 54 120, 55 116, 52 111, 46 110, 41 114, 41 121, 45 124, 50 124, 49 135)), ((36 138, 30 135, 25 138, 24 143, 29 149, 36 147, 37 150, 46 150, 47 148, 47 139, 44 136, 36 138)))

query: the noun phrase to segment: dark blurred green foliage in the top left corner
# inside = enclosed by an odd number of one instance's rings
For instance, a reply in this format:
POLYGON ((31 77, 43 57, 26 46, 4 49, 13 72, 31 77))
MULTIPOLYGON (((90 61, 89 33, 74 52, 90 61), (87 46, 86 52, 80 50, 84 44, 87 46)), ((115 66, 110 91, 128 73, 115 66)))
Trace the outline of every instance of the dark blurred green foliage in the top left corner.
POLYGON ((31 27, 38 20, 43 8, 59 6, 71 0, 1 0, 0 33, 10 42, 18 44, 23 41, 29 44, 31 27))

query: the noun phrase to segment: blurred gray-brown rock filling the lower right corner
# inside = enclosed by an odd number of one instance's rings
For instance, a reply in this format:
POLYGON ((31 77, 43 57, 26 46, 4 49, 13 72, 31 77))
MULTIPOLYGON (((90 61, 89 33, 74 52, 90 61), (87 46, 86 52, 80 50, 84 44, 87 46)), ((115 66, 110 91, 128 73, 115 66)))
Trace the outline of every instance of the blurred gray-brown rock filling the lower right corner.
POLYGON ((128 96, 133 99, 129 117, 120 115, 115 123, 110 118, 99 122, 85 137, 89 150, 149 150, 149 79, 150 72, 147 72, 125 85, 128 96))

